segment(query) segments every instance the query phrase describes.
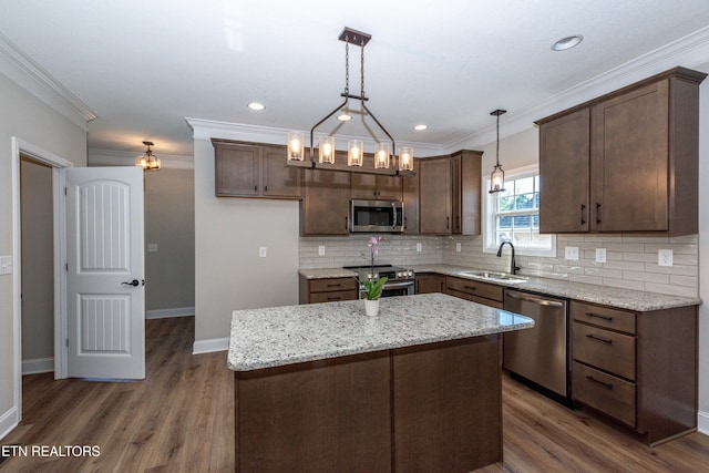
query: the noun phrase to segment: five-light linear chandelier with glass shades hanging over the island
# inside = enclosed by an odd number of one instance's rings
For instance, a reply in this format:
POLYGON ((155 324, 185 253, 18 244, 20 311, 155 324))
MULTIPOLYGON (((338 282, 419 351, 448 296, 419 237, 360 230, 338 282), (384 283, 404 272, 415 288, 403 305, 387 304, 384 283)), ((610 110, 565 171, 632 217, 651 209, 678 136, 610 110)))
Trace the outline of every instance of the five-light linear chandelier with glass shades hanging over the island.
POLYGON ((371 35, 361 31, 345 28, 338 38, 345 41, 345 92, 340 96, 345 97, 345 102, 338 105, 332 112, 316 123, 310 128, 310 150, 308 161, 305 154, 305 136, 302 132, 289 132, 287 153, 287 165, 298 167, 309 167, 330 171, 347 171, 361 174, 384 174, 391 176, 411 176, 413 175, 413 148, 411 146, 402 146, 399 156, 395 156, 397 144, 394 138, 389 134, 387 128, 377 120, 377 117, 367 107, 366 102, 369 100, 364 95, 364 47, 371 40, 371 35), (360 48, 361 52, 361 85, 360 94, 350 93, 350 59, 349 48, 354 44, 360 48), (333 136, 320 136, 318 146, 318 158, 315 157, 314 142, 315 130, 325 123, 332 115, 337 115, 337 120, 348 122, 352 119, 350 114, 350 100, 360 101, 366 114, 369 115, 382 132, 389 137, 391 143, 378 142, 374 146, 374 165, 373 167, 364 167, 364 143, 361 140, 350 140, 347 144, 347 165, 336 163, 336 147, 333 136))

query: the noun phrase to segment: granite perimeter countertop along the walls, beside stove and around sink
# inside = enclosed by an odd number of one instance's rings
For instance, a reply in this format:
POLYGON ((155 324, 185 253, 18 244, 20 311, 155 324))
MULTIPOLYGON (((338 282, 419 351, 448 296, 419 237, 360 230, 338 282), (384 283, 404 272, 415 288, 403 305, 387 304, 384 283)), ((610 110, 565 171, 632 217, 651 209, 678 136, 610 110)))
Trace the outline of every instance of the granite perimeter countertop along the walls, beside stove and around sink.
MULTIPOLYGON (((487 284, 508 287, 512 289, 564 297, 583 302, 599 304, 603 306, 637 310, 641 312, 650 310, 671 309, 675 307, 697 306, 701 304, 701 299, 697 297, 646 292, 640 290, 621 289, 586 282, 572 282, 564 279, 540 278, 524 275, 522 275, 521 277, 526 279, 526 281, 522 284, 510 284, 504 281, 480 279, 460 274, 463 270, 480 268, 466 268, 453 265, 412 265, 407 266, 407 268, 413 269, 417 273, 435 273, 445 276, 456 276, 471 280, 481 280, 487 284)), ((354 273, 342 268, 300 269, 299 273, 308 279, 354 276, 354 273)))

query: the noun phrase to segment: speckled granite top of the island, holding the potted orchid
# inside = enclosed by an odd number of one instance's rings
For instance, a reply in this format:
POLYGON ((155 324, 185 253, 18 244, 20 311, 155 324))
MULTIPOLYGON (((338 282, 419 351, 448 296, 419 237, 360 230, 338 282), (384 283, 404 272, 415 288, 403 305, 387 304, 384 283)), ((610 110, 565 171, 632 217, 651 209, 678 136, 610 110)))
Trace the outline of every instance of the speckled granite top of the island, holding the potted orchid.
POLYGON ((534 327, 527 317, 443 294, 235 310, 228 367, 251 371, 534 327))

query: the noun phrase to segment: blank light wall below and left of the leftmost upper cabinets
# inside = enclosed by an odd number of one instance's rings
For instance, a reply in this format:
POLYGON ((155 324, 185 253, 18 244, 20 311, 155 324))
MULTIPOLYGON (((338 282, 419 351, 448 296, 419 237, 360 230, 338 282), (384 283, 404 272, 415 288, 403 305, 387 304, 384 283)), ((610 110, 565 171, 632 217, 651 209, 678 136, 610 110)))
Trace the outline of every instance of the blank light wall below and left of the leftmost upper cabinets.
POLYGON ((298 304, 299 203, 217 198, 214 182, 214 147, 195 138, 195 351, 226 348, 235 309, 298 304))

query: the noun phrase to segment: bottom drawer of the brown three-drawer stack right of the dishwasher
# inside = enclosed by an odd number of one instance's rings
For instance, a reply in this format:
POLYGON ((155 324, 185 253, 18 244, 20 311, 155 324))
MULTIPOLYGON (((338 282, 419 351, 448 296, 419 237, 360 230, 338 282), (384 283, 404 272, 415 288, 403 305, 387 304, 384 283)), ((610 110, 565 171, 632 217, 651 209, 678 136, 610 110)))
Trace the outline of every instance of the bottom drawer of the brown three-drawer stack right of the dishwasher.
POLYGON ((633 428, 636 425, 635 384, 574 361, 572 398, 633 428))

